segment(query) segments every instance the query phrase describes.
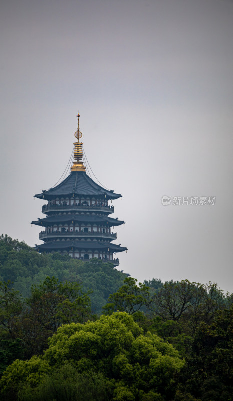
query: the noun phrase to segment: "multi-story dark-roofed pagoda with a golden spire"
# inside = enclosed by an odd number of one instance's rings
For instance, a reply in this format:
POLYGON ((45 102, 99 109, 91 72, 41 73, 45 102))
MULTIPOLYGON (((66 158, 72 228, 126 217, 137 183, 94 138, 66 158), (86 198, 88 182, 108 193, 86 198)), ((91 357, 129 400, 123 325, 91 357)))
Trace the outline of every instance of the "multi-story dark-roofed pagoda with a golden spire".
POLYGON ((79 141, 82 137, 80 115, 77 117, 77 142, 74 143, 74 162, 69 176, 54 188, 35 195, 48 201, 42 206, 46 217, 32 222, 45 228, 39 235, 44 243, 36 245, 35 249, 38 252, 68 252, 72 258, 84 260, 96 257, 118 266, 119 259, 113 254, 127 248, 112 243, 117 235, 111 228, 125 222, 109 217, 114 208, 108 202, 122 195, 102 188, 86 174, 83 143, 79 141))

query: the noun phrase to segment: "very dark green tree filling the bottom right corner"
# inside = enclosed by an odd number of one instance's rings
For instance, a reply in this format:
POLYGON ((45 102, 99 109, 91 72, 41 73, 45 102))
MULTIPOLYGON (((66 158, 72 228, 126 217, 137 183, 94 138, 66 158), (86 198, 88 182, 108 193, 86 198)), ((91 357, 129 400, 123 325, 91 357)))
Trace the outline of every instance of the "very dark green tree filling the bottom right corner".
POLYGON ((202 401, 233 399, 233 308, 198 327, 181 375, 180 391, 202 401))

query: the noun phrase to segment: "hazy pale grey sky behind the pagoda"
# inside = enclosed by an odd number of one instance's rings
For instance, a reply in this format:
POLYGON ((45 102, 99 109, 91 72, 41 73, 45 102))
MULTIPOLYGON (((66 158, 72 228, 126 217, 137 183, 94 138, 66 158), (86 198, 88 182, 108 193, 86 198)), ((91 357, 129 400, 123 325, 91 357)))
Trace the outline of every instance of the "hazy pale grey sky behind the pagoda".
POLYGON ((0 19, 0 232, 41 243, 33 196, 65 170, 79 110, 93 172, 123 195, 120 270, 232 292, 233 2, 8 0, 0 19))

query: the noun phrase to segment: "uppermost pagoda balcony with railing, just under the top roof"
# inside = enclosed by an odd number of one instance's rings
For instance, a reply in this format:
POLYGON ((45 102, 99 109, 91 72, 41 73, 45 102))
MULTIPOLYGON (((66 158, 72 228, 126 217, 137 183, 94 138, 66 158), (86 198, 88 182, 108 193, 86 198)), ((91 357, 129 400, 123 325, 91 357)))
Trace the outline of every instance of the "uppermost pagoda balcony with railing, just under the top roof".
POLYGON ((114 207, 113 206, 100 206, 100 205, 56 205, 56 204, 46 204, 42 206, 42 213, 47 213, 47 212, 67 212, 67 210, 85 210, 86 212, 107 212, 109 213, 114 213, 114 207))

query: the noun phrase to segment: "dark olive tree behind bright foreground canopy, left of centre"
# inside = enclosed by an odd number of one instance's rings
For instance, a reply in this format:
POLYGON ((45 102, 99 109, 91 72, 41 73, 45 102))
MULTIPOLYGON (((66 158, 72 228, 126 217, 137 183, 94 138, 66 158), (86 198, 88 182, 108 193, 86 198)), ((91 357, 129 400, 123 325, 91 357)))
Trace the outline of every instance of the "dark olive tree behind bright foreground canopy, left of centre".
POLYGON ((27 357, 41 354, 47 348, 47 338, 63 323, 83 323, 91 317, 90 298, 81 285, 59 283, 55 277, 33 285, 26 304, 17 334, 27 348, 27 357))

